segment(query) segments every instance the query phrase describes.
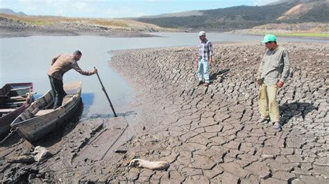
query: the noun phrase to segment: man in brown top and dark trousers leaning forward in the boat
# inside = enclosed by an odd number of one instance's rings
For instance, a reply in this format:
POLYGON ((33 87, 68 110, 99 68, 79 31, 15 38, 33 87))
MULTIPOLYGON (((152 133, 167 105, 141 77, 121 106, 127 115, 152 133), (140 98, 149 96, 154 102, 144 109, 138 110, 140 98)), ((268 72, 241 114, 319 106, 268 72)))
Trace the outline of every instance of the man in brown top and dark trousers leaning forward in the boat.
POLYGON ((57 109, 62 105, 62 100, 66 95, 62 82, 64 73, 71 70, 71 68, 74 68, 75 71, 82 75, 94 75, 97 73, 96 68, 94 68, 94 71, 83 71, 78 66, 78 60, 81 59, 81 56, 82 53, 76 50, 73 55, 62 54, 52 59, 48 75, 51 84, 51 93, 53 95, 53 109, 57 109))

